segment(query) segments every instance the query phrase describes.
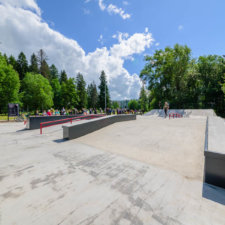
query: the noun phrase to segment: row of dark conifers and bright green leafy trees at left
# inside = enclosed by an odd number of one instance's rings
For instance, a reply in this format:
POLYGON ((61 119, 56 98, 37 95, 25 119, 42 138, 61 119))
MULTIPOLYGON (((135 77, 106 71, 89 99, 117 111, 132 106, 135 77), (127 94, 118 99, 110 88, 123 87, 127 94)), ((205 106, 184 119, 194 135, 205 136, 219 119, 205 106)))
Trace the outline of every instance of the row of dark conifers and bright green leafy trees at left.
POLYGON ((106 74, 100 74, 100 85, 94 81, 86 87, 81 73, 68 78, 65 70, 47 63, 48 57, 41 49, 32 54, 28 63, 23 52, 14 56, 0 53, 0 113, 7 112, 8 103, 19 103, 24 111, 76 108, 111 107, 106 74))

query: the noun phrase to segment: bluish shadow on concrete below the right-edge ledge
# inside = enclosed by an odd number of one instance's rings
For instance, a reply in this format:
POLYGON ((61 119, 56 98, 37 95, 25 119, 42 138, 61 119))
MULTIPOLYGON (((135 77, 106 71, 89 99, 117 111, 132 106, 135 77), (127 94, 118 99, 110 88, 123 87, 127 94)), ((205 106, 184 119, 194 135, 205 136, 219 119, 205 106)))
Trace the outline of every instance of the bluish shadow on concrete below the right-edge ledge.
POLYGON ((219 204, 225 205, 225 189, 223 188, 203 183, 202 197, 217 202, 219 204))

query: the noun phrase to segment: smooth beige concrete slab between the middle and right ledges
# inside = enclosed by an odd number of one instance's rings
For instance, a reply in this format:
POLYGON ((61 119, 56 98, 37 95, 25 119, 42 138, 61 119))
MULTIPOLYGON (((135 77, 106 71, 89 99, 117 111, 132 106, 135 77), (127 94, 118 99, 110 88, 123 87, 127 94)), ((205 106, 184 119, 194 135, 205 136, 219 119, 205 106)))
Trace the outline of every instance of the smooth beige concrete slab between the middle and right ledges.
POLYGON ((203 179, 206 117, 164 119, 137 117, 114 124, 77 142, 203 179))

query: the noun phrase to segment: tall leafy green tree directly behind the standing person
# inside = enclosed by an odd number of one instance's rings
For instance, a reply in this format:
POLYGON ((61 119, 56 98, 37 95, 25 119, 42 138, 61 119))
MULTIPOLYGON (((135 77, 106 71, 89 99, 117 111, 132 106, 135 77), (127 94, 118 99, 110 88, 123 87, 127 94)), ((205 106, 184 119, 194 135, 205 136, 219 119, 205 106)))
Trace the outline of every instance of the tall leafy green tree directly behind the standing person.
POLYGON ((186 101, 187 76, 191 64, 191 49, 176 44, 174 48, 157 50, 146 56, 147 64, 140 77, 148 82, 151 90, 151 105, 169 101, 174 108, 183 108, 186 101))

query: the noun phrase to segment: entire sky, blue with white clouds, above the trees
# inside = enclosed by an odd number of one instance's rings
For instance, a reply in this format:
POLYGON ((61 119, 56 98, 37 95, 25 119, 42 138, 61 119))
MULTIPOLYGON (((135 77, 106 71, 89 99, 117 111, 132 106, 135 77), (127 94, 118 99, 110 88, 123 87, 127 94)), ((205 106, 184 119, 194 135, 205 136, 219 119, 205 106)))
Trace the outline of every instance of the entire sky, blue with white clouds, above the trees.
POLYGON ((136 99, 144 56, 174 44, 225 54, 224 0, 0 0, 0 52, 43 49, 88 83, 107 75, 112 100, 136 99))

